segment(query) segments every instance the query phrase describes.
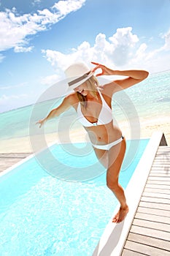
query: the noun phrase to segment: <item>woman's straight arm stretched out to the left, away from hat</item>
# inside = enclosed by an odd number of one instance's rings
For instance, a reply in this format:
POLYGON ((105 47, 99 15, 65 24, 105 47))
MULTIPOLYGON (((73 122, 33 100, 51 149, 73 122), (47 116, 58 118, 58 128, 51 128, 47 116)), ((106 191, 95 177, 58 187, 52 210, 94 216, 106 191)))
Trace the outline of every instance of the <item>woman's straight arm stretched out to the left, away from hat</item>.
POLYGON ((51 110, 50 113, 45 118, 37 121, 36 124, 39 124, 39 128, 41 128, 42 125, 45 124, 47 120, 60 116, 61 113, 65 112, 70 107, 72 107, 72 95, 66 96, 63 99, 63 102, 61 103, 61 105, 51 110))

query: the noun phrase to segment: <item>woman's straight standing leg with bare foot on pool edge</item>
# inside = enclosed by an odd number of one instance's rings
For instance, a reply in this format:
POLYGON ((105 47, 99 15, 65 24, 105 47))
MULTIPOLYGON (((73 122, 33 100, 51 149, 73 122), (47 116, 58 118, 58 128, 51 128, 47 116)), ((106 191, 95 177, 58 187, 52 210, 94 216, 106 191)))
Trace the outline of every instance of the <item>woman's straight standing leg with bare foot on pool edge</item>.
POLYGON ((121 222, 125 219, 126 214, 128 213, 128 206, 125 200, 125 194, 123 187, 118 183, 120 167, 123 163, 123 158, 125 156, 125 138, 109 149, 109 167, 107 169, 107 187, 112 190, 117 197, 117 200, 120 202, 120 210, 117 212, 113 218, 113 222, 121 222))

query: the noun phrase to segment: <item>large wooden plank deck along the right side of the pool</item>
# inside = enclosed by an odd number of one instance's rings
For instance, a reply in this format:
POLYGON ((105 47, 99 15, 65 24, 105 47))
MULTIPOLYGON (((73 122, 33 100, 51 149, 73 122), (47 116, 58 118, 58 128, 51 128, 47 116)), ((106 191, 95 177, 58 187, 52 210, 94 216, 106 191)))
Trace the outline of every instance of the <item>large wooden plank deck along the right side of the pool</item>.
POLYGON ((122 256, 170 255, 170 146, 159 146, 122 256))

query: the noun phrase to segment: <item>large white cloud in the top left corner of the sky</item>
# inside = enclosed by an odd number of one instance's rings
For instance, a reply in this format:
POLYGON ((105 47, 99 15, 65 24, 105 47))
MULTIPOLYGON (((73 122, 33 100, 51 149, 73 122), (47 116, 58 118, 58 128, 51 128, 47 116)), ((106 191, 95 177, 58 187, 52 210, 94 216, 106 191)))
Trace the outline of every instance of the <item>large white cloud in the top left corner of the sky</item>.
MULTIPOLYGON (((28 36, 43 31, 51 24, 58 23, 70 12, 82 7, 86 0, 58 1, 50 10, 38 10, 34 14, 19 15, 14 8, 0 12, 0 51, 23 47, 28 43, 28 36), (65 9, 64 9, 65 8, 65 9)), ((28 48, 31 50, 31 48, 28 48)))

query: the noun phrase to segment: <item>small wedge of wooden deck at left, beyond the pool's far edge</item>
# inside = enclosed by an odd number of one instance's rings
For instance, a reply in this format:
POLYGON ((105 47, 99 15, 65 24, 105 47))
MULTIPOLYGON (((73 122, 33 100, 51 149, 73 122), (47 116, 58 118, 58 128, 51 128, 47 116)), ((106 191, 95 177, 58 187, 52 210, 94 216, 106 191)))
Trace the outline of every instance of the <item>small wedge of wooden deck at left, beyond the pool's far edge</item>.
POLYGON ((31 153, 9 153, 0 154, 0 173, 6 170, 8 167, 15 165, 22 159, 28 157, 31 153))

